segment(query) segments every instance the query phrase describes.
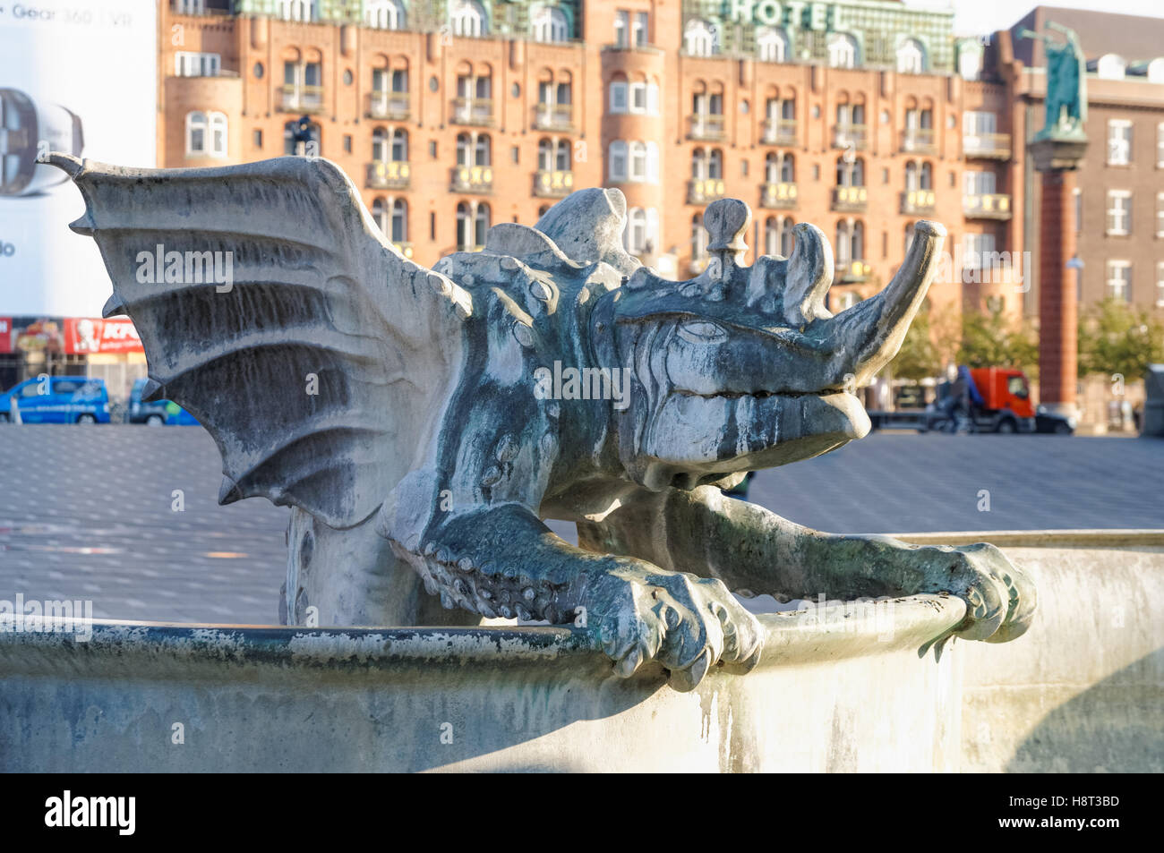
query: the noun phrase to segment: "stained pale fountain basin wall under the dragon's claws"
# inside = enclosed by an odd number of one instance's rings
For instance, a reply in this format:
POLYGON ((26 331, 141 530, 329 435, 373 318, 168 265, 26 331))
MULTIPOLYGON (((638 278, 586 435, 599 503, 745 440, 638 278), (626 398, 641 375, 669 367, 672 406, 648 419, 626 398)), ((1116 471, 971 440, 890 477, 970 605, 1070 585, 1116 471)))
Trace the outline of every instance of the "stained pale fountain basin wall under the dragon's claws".
POLYGON ((613 676, 568 628, 109 621, 81 641, 3 617, 0 770, 1159 769, 1164 533, 943 535, 903 538, 995 541, 1032 571, 1025 637, 938 663, 918 649, 956 598, 765 614, 760 666, 688 694, 613 676))

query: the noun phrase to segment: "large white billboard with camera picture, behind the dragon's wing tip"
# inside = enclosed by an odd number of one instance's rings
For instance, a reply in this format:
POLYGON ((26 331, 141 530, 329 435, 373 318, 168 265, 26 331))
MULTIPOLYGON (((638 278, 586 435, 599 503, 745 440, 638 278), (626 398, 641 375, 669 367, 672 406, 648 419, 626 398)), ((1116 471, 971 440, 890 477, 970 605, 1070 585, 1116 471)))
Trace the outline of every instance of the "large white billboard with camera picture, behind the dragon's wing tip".
POLYGON ((156 165, 155 0, 0 2, 0 314, 99 317, 111 293, 45 149, 156 165))

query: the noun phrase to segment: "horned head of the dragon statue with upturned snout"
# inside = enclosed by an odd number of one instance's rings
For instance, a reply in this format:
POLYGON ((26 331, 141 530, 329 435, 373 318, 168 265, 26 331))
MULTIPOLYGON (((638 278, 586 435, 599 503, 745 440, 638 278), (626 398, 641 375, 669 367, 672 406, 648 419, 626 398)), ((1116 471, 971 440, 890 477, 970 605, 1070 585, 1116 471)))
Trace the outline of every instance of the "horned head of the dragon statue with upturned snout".
POLYGON ((751 218, 743 201, 714 202, 698 277, 673 282, 640 266, 591 314, 599 363, 631 372, 618 449, 648 488, 715 482, 863 438, 870 420, 853 392, 897 354, 945 237, 917 222, 889 286, 833 315, 824 234, 797 225, 792 257, 744 266, 751 218))

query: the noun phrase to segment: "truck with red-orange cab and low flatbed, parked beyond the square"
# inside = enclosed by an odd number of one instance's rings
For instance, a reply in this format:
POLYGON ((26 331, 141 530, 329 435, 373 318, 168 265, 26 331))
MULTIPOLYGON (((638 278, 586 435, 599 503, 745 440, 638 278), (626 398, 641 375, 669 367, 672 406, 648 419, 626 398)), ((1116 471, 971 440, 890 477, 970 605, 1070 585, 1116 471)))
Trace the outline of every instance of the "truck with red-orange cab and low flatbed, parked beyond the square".
MULTIPOLYGON (((972 368, 974 428, 978 432, 1032 433, 1036 431, 1035 406, 1030 401, 1027 375, 1017 368, 972 368)), ((903 427, 927 432, 947 426, 950 418, 939 400, 923 408, 868 413, 873 428, 903 427)))

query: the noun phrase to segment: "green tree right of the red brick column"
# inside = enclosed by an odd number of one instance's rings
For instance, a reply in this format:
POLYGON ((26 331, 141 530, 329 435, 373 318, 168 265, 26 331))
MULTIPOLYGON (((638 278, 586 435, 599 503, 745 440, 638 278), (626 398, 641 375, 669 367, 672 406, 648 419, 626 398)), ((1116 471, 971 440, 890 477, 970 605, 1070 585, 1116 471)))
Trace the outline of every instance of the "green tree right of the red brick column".
POLYGON ((1143 308, 1105 299, 1079 318, 1079 376, 1120 374, 1140 379, 1164 362, 1164 324, 1143 308))

